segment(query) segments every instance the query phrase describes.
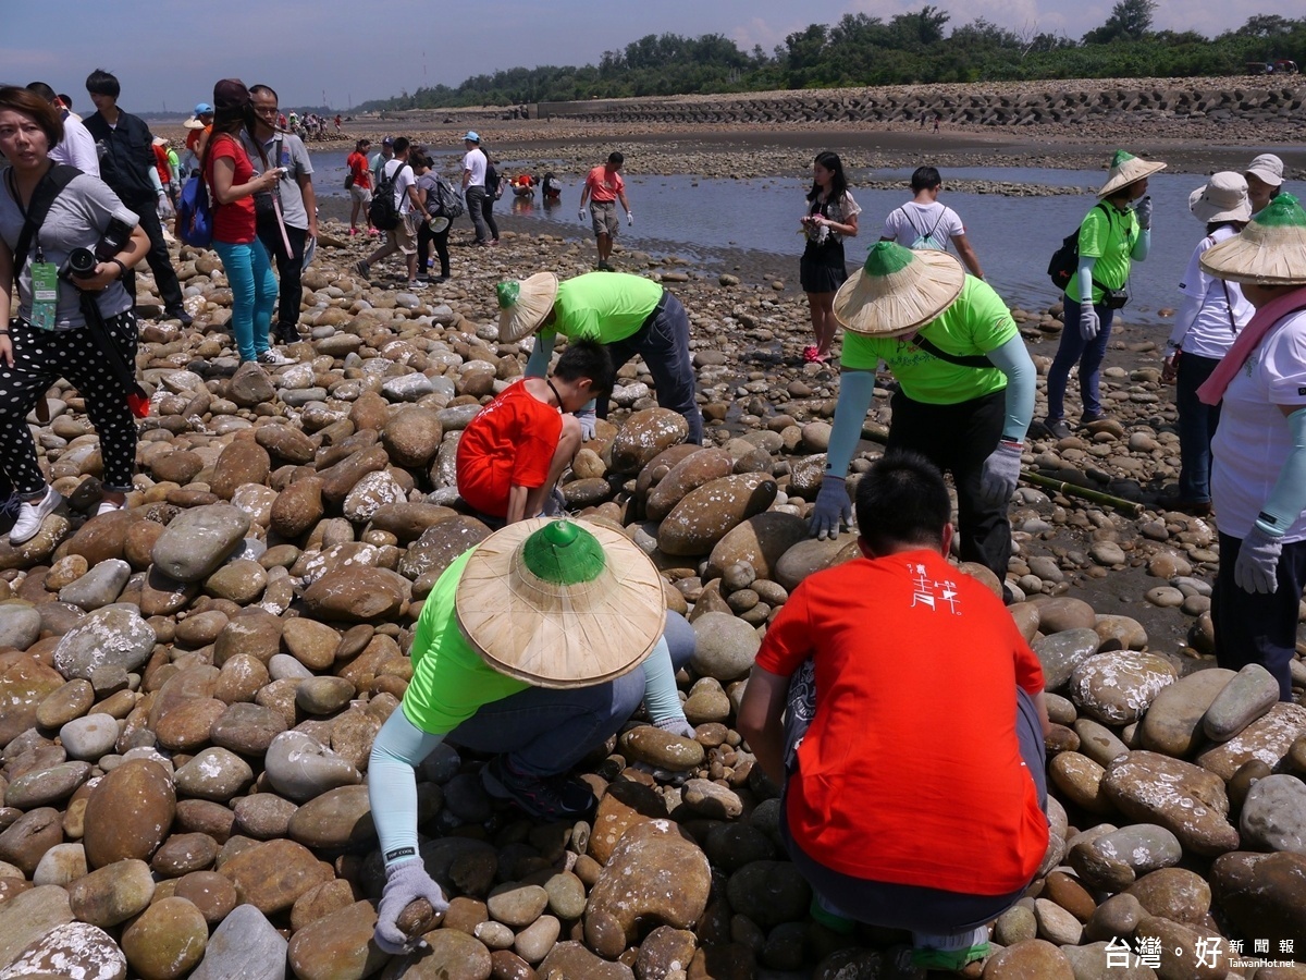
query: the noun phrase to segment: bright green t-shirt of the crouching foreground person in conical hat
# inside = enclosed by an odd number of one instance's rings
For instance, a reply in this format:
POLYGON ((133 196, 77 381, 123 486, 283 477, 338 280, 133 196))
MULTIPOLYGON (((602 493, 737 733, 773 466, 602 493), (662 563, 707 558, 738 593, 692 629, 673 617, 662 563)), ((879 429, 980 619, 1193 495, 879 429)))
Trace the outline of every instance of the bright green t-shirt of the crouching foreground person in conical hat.
POLYGON ((448 734, 482 704, 530 686, 486 664, 458 629, 453 596, 473 550, 458 557, 436 580, 413 636, 413 679, 404 691, 404 715, 430 734, 448 734))

